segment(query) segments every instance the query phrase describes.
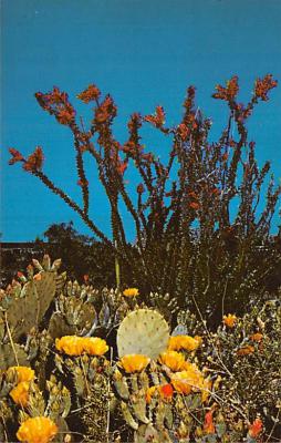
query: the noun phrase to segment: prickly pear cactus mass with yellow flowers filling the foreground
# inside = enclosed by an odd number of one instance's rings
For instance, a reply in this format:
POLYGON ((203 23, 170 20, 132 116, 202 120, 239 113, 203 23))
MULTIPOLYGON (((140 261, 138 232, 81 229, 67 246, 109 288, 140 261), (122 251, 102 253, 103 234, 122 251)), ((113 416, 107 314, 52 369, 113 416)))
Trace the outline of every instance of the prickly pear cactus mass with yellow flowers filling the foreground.
POLYGON ((1 442, 254 443, 267 420, 277 435, 278 303, 230 315, 216 333, 178 311, 171 331, 137 289, 98 291, 59 267, 33 260, 0 292, 1 442), (262 393, 249 398, 260 373, 272 385, 268 409, 262 393))

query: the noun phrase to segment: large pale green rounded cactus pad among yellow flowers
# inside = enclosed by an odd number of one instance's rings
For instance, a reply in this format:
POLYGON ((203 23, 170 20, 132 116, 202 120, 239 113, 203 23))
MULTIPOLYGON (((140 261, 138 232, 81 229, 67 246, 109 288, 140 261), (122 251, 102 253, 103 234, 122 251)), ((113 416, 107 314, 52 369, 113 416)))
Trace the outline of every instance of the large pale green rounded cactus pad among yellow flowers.
POLYGON ((137 309, 129 312, 117 331, 118 356, 138 353, 157 359, 167 349, 169 327, 154 310, 137 309))

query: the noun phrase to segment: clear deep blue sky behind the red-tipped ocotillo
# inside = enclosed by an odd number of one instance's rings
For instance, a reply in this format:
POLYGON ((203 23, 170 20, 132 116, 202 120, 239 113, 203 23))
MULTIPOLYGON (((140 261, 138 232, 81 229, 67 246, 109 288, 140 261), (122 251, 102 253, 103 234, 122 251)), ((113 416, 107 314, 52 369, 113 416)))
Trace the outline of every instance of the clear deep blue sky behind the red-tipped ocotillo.
MULTIPOLYGON (((2 0, 1 6, 2 240, 32 240, 50 224, 71 219, 90 234, 35 177, 8 166, 8 147, 28 154, 41 145, 44 171, 80 200, 70 131, 33 96, 53 85, 75 104, 90 83, 110 92, 118 105, 115 134, 125 141, 125 122, 134 111, 148 114, 162 104, 167 123, 176 124, 189 84, 197 86, 197 103, 212 117, 216 133, 226 105, 211 99, 215 85, 237 74, 246 101, 254 79, 272 73, 279 87, 258 106, 249 132, 260 164, 270 159, 280 179, 280 0, 2 0)), ((84 114, 85 109, 79 107, 84 114)), ((92 175, 92 215, 108 234, 106 200, 92 175)))

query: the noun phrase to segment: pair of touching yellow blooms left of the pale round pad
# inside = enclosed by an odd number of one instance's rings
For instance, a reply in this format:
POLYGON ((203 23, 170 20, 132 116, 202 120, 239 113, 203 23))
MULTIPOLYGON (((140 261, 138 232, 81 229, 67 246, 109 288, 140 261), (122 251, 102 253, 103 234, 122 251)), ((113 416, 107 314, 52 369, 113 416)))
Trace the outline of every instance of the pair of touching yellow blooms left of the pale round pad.
POLYGON ((67 356, 81 356, 82 353, 103 356, 110 349, 106 341, 98 337, 76 336, 64 336, 61 339, 56 339, 55 348, 67 356))

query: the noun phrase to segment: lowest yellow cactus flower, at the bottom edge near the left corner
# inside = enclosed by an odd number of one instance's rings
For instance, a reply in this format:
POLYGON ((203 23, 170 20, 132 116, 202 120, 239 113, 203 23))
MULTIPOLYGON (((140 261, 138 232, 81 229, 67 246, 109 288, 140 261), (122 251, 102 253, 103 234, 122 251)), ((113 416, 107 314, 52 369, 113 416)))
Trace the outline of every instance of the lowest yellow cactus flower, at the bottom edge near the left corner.
POLYGON ((17 437, 24 443, 49 443, 58 434, 56 424, 46 416, 35 416, 25 420, 17 437))

